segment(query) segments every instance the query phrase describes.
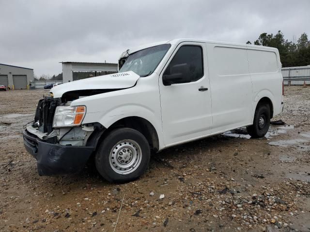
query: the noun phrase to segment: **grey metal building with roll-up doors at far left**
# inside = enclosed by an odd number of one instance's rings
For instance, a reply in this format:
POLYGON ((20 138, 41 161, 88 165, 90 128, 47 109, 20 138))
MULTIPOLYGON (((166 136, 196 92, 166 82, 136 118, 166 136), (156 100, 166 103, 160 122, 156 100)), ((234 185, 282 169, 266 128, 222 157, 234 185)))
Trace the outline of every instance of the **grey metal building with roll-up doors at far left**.
POLYGON ((33 81, 33 69, 0 64, 0 85, 11 89, 27 89, 33 81))

